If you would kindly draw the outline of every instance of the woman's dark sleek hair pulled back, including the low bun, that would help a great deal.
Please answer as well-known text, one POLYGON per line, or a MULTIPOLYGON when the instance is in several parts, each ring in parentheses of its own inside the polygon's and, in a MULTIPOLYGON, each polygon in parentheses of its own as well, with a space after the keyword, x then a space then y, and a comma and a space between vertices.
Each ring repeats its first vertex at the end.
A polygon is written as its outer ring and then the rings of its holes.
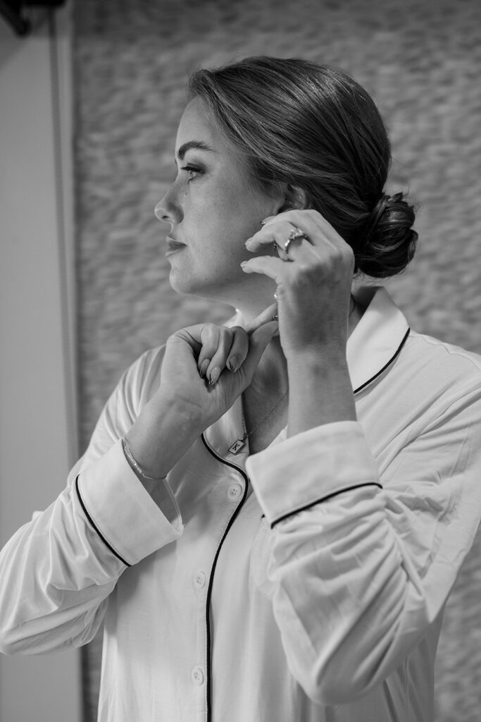
MULTIPOLYGON (((200 69, 189 80, 220 131, 265 191, 286 184, 305 194, 353 248, 356 271, 385 278, 415 252, 415 213, 403 193, 384 193, 391 163, 374 101, 332 66, 299 58, 244 58, 200 69)), ((287 210, 285 206, 284 210, 287 210)))

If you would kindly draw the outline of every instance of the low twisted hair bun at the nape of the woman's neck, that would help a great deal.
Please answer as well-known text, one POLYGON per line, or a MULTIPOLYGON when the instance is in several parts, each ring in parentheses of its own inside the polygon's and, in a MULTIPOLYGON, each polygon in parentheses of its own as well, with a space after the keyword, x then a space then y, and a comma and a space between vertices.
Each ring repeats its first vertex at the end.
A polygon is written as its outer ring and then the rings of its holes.
POLYGON ((418 233, 412 230, 415 212, 403 193, 383 193, 366 219, 356 270, 373 278, 404 271, 414 256, 418 233))

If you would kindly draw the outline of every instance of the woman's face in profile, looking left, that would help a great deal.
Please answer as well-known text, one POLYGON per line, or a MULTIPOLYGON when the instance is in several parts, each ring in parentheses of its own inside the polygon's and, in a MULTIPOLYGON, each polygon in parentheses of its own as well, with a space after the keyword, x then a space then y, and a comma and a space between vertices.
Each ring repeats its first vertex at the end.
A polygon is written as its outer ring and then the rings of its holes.
POLYGON ((180 120, 175 160, 177 177, 155 209, 156 217, 171 225, 167 257, 172 288, 241 307, 254 294, 259 302, 265 297, 268 305, 273 282, 247 276, 239 264, 252 258, 244 242, 260 229, 263 218, 280 211, 282 193, 268 196, 254 187, 242 157, 198 97, 180 120))

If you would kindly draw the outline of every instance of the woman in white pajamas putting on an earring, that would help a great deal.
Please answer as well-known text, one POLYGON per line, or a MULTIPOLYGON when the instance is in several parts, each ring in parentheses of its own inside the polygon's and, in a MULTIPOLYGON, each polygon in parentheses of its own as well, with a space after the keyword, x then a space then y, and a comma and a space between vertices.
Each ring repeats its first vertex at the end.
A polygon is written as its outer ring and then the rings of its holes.
POLYGON ((405 268, 389 142, 352 79, 198 71, 170 282, 230 303, 120 380, 58 499, 1 557, 2 649, 105 622, 102 722, 433 720, 441 617, 481 516, 480 359, 354 273, 405 268))

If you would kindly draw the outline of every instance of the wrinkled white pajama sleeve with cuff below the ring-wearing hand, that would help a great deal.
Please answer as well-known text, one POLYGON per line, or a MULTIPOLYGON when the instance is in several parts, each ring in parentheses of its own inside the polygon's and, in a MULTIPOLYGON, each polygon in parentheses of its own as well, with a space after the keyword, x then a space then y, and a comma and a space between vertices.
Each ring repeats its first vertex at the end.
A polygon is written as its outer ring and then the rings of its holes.
POLYGON ((480 523, 479 376, 422 432, 412 418, 379 460, 360 423, 338 422, 247 462, 272 528, 268 574, 287 663, 319 703, 356 700, 405 661, 442 612, 480 523))

